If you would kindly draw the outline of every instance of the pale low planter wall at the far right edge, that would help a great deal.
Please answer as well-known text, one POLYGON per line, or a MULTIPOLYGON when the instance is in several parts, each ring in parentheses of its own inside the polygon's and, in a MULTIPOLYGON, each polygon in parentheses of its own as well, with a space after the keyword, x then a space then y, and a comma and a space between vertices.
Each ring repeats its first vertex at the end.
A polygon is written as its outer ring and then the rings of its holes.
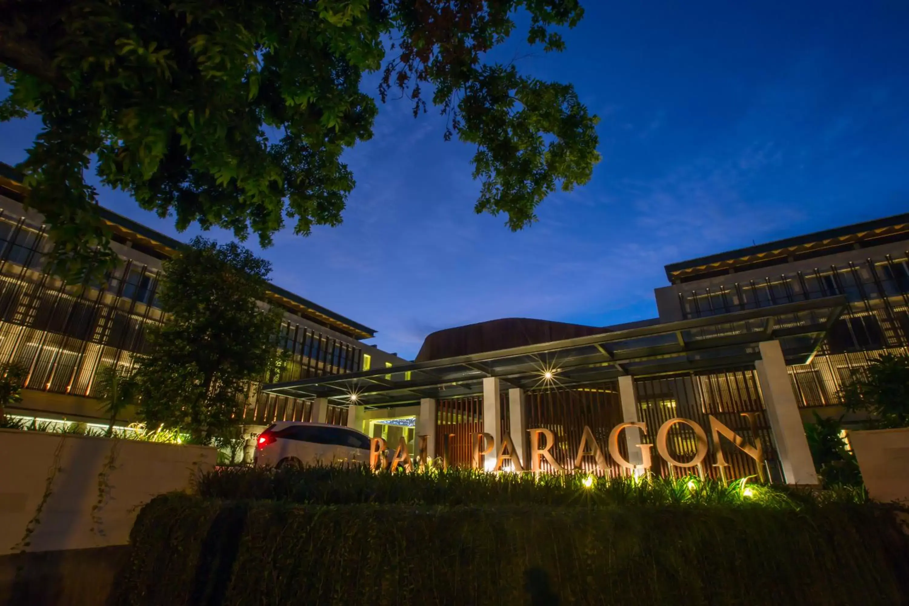
POLYGON ((909 427, 849 432, 849 443, 872 499, 909 502, 909 427))

